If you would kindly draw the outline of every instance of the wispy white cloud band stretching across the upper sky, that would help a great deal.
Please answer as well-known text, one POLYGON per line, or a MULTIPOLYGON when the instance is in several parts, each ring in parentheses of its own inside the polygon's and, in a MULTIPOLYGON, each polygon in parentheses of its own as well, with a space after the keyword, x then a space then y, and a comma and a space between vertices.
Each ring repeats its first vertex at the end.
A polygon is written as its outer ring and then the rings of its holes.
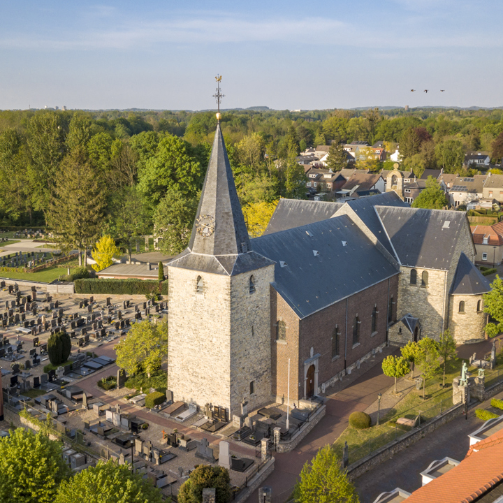
MULTIPOLYGON (((95 13, 108 17, 113 10, 95 7, 95 13)), ((359 48, 489 48, 502 47, 503 36, 490 38, 479 34, 442 34, 430 36, 425 30, 411 31, 407 23, 392 30, 349 24, 328 17, 302 19, 250 20, 235 15, 197 16, 170 20, 117 21, 99 29, 72 29, 59 26, 57 36, 17 34, 0 36, 0 46, 28 50, 130 50, 161 44, 198 45, 208 43, 302 43, 307 45, 338 45, 359 48)))

